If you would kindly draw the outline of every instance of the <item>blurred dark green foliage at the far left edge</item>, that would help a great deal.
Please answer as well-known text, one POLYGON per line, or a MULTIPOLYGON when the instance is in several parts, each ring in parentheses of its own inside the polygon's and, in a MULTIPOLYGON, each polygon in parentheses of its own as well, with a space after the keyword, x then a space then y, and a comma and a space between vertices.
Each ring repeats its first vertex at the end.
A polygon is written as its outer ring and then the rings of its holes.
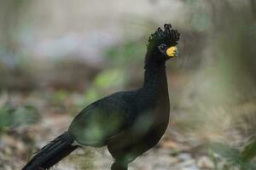
POLYGON ((0 131, 9 127, 19 127, 38 122, 38 110, 32 105, 17 108, 4 105, 0 108, 0 131))

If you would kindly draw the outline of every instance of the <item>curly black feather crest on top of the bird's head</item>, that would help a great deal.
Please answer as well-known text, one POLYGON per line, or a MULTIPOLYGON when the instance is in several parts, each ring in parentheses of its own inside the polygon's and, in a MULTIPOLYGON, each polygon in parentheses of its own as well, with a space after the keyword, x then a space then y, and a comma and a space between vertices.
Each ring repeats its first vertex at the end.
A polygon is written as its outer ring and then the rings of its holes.
POLYGON ((154 32, 154 34, 151 34, 148 39, 148 45, 151 42, 154 44, 165 43, 172 46, 177 45, 177 41, 179 40, 180 35, 177 30, 172 29, 171 24, 165 24, 164 28, 165 30, 163 31, 159 27, 157 31, 154 32))

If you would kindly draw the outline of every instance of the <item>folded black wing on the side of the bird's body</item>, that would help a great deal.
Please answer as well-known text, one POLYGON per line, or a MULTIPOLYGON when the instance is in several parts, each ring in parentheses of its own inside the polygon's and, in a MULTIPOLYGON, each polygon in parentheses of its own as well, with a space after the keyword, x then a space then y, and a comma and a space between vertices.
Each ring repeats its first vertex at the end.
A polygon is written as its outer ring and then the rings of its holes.
POLYGON ((104 145, 128 126, 126 106, 118 98, 98 100, 74 118, 69 132, 80 144, 104 145))

